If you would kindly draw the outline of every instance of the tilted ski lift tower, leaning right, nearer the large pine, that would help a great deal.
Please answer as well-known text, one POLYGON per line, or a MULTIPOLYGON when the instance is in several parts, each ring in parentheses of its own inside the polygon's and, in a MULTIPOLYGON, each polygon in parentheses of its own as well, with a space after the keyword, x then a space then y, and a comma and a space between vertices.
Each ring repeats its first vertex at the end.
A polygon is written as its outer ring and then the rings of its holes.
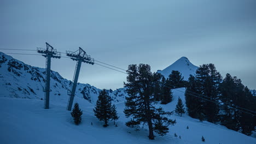
POLYGON ((68 57, 71 57, 71 59, 73 61, 77 61, 77 65, 75 66, 75 73, 74 73, 74 77, 73 77, 73 86, 72 86, 72 89, 71 89, 71 93, 68 94, 70 96, 69 96, 69 99, 68 99, 67 110, 71 111, 73 101, 74 101, 75 88, 77 88, 77 81, 78 81, 78 76, 79 76, 79 72, 80 72, 82 62, 93 65, 94 64, 94 59, 91 58, 89 55, 87 55, 86 52, 81 47, 79 47, 79 50, 77 50, 75 52, 66 51, 66 55, 68 57))

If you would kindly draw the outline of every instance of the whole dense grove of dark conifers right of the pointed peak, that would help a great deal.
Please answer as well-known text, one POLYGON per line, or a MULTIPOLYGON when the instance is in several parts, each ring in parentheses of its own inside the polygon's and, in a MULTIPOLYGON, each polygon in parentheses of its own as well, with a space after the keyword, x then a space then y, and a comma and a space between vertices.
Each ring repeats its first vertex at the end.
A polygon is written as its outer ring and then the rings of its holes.
POLYGON ((214 64, 203 64, 195 76, 190 75, 186 87, 185 103, 190 117, 252 134, 256 118, 240 107, 256 111, 256 99, 236 76, 226 74, 222 79, 214 64))

